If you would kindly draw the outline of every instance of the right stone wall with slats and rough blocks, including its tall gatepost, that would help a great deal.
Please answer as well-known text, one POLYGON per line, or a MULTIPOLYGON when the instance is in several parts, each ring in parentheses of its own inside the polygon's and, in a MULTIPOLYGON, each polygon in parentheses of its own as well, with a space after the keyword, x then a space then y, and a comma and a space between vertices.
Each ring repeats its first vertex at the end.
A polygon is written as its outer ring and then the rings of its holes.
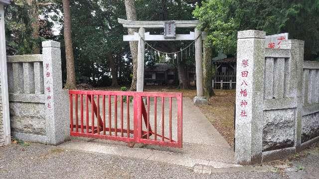
POLYGON ((319 141, 319 62, 304 41, 265 48, 265 32, 238 32, 235 158, 261 163, 319 141))

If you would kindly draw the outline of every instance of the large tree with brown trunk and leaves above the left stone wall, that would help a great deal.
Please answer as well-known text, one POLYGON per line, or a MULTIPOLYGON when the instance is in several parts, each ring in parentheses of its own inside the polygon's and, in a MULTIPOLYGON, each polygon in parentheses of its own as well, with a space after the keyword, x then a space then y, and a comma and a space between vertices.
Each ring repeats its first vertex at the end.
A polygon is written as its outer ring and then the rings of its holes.
POLYGON ((39 54, 41 41, 53 39, 50 12, 53 0, 14 0, 5 7, 7 45, 16 51, 10 55, 39 54))

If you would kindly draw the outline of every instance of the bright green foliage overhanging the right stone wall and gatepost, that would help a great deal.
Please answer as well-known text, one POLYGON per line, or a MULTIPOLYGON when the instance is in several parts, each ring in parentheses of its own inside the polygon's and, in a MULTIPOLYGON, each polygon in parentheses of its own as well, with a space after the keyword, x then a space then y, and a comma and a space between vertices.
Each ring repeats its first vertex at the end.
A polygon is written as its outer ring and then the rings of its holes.
POLYGON ((305 40, 305 60, 319 56, 318 13, 319 0, 205 0, 193 11, 217 51, 234 55, 240 30, 289 32, 290 39, 305 40))

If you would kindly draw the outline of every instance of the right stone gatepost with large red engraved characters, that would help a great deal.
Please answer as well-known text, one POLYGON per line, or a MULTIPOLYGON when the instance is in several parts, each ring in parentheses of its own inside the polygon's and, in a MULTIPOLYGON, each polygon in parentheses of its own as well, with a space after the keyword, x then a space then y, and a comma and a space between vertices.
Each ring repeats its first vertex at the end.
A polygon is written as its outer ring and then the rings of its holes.
POLYGON ((235 160, 238 164, 262 161, 265 32, 238 32, 235 160))

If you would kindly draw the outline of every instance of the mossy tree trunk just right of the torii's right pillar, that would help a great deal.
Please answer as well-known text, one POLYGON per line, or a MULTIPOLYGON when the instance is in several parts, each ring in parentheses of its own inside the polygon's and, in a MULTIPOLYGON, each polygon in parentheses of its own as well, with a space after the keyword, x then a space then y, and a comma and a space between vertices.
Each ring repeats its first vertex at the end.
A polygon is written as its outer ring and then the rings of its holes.
POLYGON ((214 95, 214 91, 212 89, 212 49, 210 47, 206 47, 204 44, 204 55, 203 55, 203 80, 204 80, 204 96, 210 97, 214 95))

